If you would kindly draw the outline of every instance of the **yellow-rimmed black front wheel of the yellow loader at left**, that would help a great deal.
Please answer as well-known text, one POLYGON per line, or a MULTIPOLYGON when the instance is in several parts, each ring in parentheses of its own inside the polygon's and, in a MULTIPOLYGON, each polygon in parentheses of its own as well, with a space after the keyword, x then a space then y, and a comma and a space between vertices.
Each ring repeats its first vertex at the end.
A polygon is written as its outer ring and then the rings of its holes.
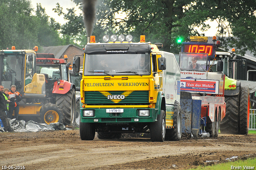
POLYGON ((64 114, 63 110, 56 104, 47 103, 44 104, 40 109, 40 122, 50 123, 63 123, 64 114))

